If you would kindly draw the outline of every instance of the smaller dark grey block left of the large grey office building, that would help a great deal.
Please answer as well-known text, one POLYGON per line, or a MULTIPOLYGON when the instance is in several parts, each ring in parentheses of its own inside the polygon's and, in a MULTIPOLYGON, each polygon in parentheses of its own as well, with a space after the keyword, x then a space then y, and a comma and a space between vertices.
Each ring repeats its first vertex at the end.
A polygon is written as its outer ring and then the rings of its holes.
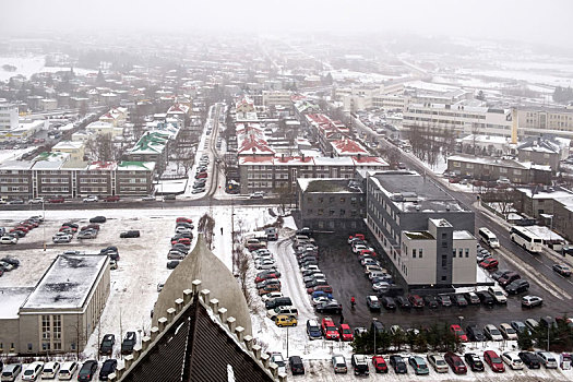
POLYGON ((366 194, 348 179, 299 178, 298 207, 301 225, 319 230, 363 230, 366 194))

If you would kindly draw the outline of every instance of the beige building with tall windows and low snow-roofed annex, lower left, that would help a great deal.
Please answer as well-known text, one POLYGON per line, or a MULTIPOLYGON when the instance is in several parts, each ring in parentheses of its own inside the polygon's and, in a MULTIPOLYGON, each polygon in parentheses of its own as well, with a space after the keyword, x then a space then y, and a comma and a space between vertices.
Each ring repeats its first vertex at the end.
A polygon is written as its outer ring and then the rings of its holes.
POLYGON ((58 255, 33 290, 1 289, 11 303, 2 303, 0 310, 0 351, 47 355, 83 349, 109 289, 108 256, 58 255))

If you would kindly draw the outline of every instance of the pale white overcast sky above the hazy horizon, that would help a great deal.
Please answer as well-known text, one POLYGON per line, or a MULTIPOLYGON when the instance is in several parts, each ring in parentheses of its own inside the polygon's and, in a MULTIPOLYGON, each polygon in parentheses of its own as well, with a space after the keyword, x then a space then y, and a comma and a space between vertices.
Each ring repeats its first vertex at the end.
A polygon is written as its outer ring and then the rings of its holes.
POLYGON ((571 0, 1 0, 0 33, 392 32, 571 44, 571 0))

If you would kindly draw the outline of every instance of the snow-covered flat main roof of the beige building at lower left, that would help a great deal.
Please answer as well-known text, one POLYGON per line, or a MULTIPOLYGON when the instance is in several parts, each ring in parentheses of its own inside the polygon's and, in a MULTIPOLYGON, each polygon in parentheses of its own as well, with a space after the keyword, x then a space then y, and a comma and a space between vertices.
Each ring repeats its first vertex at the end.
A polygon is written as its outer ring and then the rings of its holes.
POLYGON ((22 309, 82 308, 108 256, 60 254, 22 309))

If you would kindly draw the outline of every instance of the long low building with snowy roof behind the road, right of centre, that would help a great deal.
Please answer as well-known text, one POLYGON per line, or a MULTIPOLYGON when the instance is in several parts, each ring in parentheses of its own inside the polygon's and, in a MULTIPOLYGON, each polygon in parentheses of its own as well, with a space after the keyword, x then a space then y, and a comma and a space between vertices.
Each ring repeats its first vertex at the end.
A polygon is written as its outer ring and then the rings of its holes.
POLYGON ((515 184, 551 183, 551 168, 549 166, 467 154, 450 156, 447 158, 447 171, 482 181, 497 181, 505 178, 515 184))

